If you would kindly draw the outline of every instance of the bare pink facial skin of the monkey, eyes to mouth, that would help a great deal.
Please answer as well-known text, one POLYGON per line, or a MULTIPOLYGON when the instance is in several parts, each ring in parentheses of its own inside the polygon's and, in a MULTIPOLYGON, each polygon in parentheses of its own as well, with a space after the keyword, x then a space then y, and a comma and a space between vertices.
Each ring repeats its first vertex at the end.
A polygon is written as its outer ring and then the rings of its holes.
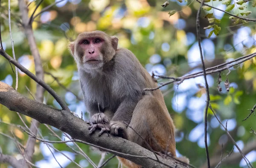
POLYGON ((83 50, 83 63, 85 64, 99 64, 103 61, 101 48, 104 40, 99 37, 90 37, 81 39, 79 42, 80 49, 83 50))

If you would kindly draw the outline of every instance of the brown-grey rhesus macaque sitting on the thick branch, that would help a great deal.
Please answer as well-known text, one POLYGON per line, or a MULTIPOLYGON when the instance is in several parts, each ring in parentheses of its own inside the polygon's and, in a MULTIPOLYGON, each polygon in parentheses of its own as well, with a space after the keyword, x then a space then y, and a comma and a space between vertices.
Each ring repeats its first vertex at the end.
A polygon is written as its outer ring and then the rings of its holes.
MULTIPOLYGON (((136 56, 128 49, 117 49, 117 43, 115 36, 102 31, 81 33, 70 43, 90 113, 90 134, 100 129, 99 135, 111 132, 151 150, 148 143, 158 152, 168 146, 170 154, 176 157, 175 126, 162 93, 143 91, 157 87, 157 83, 136 56)), ((129 168, 141 168, 129 160, 119 160, 129 168)), ((186 157, 178 160, 189 163, 186 157)))

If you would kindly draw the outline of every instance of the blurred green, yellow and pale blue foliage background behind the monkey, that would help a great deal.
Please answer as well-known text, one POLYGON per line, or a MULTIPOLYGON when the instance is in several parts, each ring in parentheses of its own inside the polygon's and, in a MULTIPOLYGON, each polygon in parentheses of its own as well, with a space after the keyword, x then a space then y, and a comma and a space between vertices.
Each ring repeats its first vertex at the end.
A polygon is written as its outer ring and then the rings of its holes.
MULTIPOLYGON (((39 0, 29 2, 32 2, 29 5, 29 14, 32 14, 39 0)), ((45 74, 45 82, 66 101, 71 111, 76 112, 80 117, 82 112, 84 120, 87 120, 88 115, 82 100, 77 67, 68 52, 67 45, 79 33, 94 30, 101 30, 110 35, 118 36, 119 47, 131 50, 149 73, 179 77, 202 70, 198 41, 195 35, 195 18, 200 4, 195 0, 183 1, 182 3, 177 0, 170 0, 169 6, 163 8, 161 5, 164 2, 165 0, 62 0, 49 10, 44 11, 35 19, 32 26, 44 70, 52 74, 52 76, 45 74), (169 16, 168 12, 171 10, 178 12, 169 16)), ((235 2, 237 0, 232 0, 232 3, 235 2)), ((44 0, 35 14, 52 3, 55 1, 44 0)), ((249 1, 242 5, 247 7, 247 11, 252 11, 248 16, 250 18, 256 18, 256 8, 253 8, 253 3, 253 1, 249 1)), ((222 10, 226 9, 226 5, 218 0, 210 1, 209 4, 222 10)), ((35 73, 35 65, 28 42, 23 34, 23 29, 17 22, 20 20, 17 0, 11 0, 11 9, 12 36, 16 58, 20 64, 35 73)), ((238 12, 241 12, 238 6, 230 11, 232 14, 238 12)), ((200 34, 207 67, 256 52, 255 22, 248 22, 247 24, 239 22, 234 25, 229 17, 224 12, 215 9, 202 11, 200 34), (210 38, 207 38, 209 32, 212 31, 212 28, 204 29, 209 25, 207 18, 204 17, 207 13, 213 13, 215 18, 221 20, 218 24, 221 27, 218 36, 212 34, 210 38)), ((0 21, 2 23, 1 33, 4 49, 12 56, 7 0, 1 0, 0 21)), ((250 133, 250 127, 256 130, 256 117, 251 115, 249 119, 242 121, 250 113, 247 109, 251 109, 256 104, 256 59, 239 64, 230 70, 231 73, 228 75, 230 92, 227 92, 224 87, 228 71, 221 73, 222 92, 218 92, 217 89, 217 74, 208 75, 207 80, 212 107, 224 125, 227 121, 227 129, 238 146, 243 149, 248 143, 256 140, 255 135, 250 133)), ((21 71, 18 73, 18 92, 32 98, 26 87, 35 94, 35 81, 21 71)), ((2 56, 0 56, 0 81, 15 86, 15 74, 12 72, 9 62, 2 56)), ((159 83, 165 81, 160 79, 159 83)), ((206 163, 204 146, 206 94, 204 85, 204 78, 201 76, 185 80, 179 85, 170 84, 161 88, 166 106, 177 129, 175 138, 177 154, 188 157, 196 167, 201 167, 206 163)), ((44 96, 46 104, 60 108, 49 93, 45 92, 44 96)), ((22 117, 29 125, 31 118, 22 117)), ((231 151, 232 148, 234 148, 233 153, 239 152, 211 111, 209 111, 207 120, 210 157, 217 155, 220 158, 221 151, 226 156, 227 151, 231 151), (223 150, 221 144, 223 144, 223 150)), ((13 132, 18 141, 26 144, 28 135, 19 128, 6 124, 15 123, 24 126, 16 112, 11 112, 5 106, 0 105, 0 121, 1 133, 12 136, 11 132, 13 132)), ((60 130, 53 127, 52 129, 63 140, 65 139, 60 130)), ((39 130, 45 139, 58 140, 46 126, 41 125, 39 130)), ((76 148, 73 143, 68 144, 76 148)), ((84 157, 75 154, 66 144, 52 145, 79 163, 81 167, 92 168, 84 157)), ((94 162, 99 162, 101 156, 98 153, 91 150, 87 145, 79 144, 79 146, 94 162)), ((0 149, 4 154, 22 158, 15 142, 3 134, 0 134, 0 149)), ((58 151, 52 149, 52 153, 63 167, 77 167, 58 151)), ((59 167, 52 153, 44 143, 38 142, 35 146, 33 163, 41 168, 59 167)), ((108 154, 106 158, 110 156, 111 154, 108 154)), ((246 157, 256 166, 255 147, 246 153, 246 157)), ((1 168, 10 168, 6 164, 0 165, 1 168)), ((114 168, 117 165, 118 161, 114 158, 105 167, 114 168)), ((244 160, 238 159, 222 167, 239 168, 244 166, 246 166, 244 160)))

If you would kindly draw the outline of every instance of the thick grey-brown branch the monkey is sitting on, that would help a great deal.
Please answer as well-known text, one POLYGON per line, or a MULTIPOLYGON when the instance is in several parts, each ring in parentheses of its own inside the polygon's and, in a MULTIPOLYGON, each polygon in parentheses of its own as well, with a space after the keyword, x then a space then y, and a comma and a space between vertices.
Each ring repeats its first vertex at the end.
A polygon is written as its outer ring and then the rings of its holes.
MULTIPOLYGON (((162 163, 157 162, 151 151, 120 137, 108 137, 107 134, 103 134, 99 137, 97 133, 90 135, 88 131, 89 125, 81 118, 77 118, 68 111, 54 109, 38 101, 32 101, 3 82, 0 82, 0 104, 3 104, 12 111, 20 112, 23 115, 34 118, 40 123, 46 123, 54 126, 55 128, 70 134, 71 137, 77 140, 83 140, 87 143, 92 143, 94 145, 116 151, 116 153, 113 151, 111 151, 111 153, 131 160, 139 165, 143 165, 144 167, 185 168, 185 166, 180 165, 176 161, 171 159, 166 160, 159 157, 160 162, 169 165, 165 166, 162 163), (143 157, 135 157, 134 155, 143 157)), ((108 150, 105 149, 105 151, 108 150)))

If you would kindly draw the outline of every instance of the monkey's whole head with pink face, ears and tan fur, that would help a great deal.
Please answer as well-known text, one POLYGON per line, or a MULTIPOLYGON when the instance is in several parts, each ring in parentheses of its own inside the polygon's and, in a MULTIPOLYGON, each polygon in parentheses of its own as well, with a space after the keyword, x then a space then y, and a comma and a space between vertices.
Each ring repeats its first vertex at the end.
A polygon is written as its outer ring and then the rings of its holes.
POLYGON ((84 32, 70 42, 70 53, 78 67, 87 72, 100 70, 115 55, 118 39, 102 31, 84 32))

